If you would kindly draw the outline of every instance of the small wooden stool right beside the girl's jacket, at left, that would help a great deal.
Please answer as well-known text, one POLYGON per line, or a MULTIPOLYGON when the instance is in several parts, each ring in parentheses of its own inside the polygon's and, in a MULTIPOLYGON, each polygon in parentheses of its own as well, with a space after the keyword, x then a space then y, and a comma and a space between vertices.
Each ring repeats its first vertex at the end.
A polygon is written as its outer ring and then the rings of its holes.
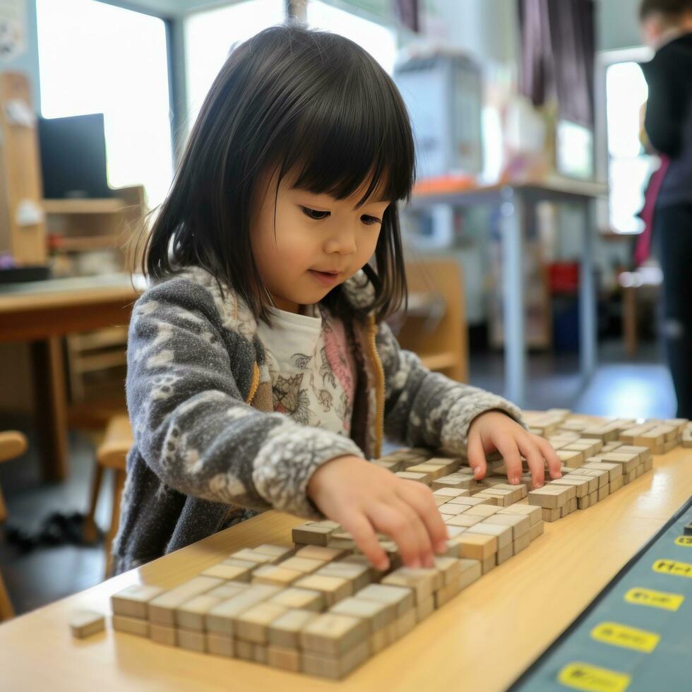
POLYGON ((103 470, 113 469, 114 479, 111 522, 106 532, 104 541, 106 559, 105 578, 108 578, 111 574, 111 546, 118 531, 118 524, 120 522, 120 499, 125 486, 126 458, 132 443, 133 437, 129 418, 124 415, 114 416, 107 426, 103 442, 96 451, 96 465, 94 468, 94 477, 91 485, 89 511, 84 524, 84 538, 87 541, 93 541, 95 539, 96 525, 94 515, 96 512, 96 503, 98 501, 98 496, 101 489, 103 470))

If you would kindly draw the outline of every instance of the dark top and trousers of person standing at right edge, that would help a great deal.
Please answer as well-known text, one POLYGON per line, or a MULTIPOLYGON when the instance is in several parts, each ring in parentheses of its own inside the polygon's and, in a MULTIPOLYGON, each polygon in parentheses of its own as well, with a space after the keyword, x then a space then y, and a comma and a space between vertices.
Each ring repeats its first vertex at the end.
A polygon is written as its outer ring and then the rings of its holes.
POLYGON ((664 338, 678 400, 692 419, 692 33, 664 44, 642 70, 649 87, 644 128, 670 157, 654 215, 663 271, 664 338))

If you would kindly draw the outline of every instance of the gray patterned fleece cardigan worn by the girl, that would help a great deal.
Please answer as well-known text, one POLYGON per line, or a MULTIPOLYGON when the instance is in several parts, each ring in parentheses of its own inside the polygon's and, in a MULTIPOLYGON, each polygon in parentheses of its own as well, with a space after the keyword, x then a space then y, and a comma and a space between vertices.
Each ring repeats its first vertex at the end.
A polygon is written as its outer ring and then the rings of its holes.
MULTIPOLYGON (((373 287, 345 282, 353 306, 373 287)), ((459 453, 470 423, 517 407, 430 372, 401 350, 386 323, 354 319, 357 390, 351 439, 273 412, 257 324, 232 290, 191 268, 150 287, 134 306, 127 405, 134 444, 114 541, 119 573, 269 508, 323 518, 306 496, 312 473, 340 455, 366 459, 391 441, 459 453)))

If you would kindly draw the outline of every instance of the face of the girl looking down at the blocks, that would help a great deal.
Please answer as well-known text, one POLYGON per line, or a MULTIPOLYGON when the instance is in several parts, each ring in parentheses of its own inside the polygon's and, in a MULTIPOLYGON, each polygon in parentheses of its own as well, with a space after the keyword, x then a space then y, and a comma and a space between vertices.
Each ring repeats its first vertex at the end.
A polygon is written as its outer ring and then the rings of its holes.
POLYGON ((258 185, 250 229, 252 253, 278 309, 299 312, 369 261, 390 202, 376 191, 356 209, 366 184, 349 198, 336 200, 295 189, 289 176, 282 179, 275 197, 277 179, 275 172, 258 185))

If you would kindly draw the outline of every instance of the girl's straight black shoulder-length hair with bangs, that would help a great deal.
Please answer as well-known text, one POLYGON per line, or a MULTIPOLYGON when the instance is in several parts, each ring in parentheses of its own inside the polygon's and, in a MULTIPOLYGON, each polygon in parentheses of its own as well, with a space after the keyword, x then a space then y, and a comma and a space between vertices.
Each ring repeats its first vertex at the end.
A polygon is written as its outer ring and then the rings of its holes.
POLYGON ((391 201, 364 272, 375 299, 347 308, 342 287, 323 303, 335 314, 381 320, 406 303, 396 201, 415 177, 406 107, 377 62, 354 42, 289 24, 268 28, 229 55, 205 98, 169 194, 146 241, 142 270, 166 278, 201 266, 269 321, 268 293, 253 261, 251 201, 263 173, 337 199, 367 184, 391 201))

